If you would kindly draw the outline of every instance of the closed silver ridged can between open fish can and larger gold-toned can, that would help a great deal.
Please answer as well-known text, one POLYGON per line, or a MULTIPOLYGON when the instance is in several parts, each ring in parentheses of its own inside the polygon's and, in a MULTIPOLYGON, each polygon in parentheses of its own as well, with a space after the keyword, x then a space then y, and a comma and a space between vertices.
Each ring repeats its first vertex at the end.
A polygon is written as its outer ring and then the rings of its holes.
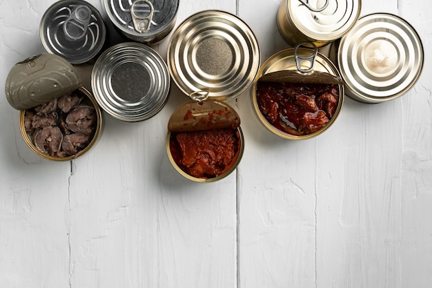
POLYGON ((141 121, 163 108, 170 90, 164 59, 135 42, 106 50, 92 70, 95 99, 108 114, 127 122, 141 121))

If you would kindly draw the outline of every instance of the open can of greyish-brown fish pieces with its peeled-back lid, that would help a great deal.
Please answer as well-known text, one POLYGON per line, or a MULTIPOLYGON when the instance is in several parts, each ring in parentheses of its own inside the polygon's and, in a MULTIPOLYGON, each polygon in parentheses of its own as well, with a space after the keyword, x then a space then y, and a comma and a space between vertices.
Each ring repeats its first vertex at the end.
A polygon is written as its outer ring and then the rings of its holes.
POLYGON ((19 62, 6 79, 6 98, 21 111, 23 140, 37 155, 75 159, 99 138, 102 115, 66 59, 42 54, 19 62))

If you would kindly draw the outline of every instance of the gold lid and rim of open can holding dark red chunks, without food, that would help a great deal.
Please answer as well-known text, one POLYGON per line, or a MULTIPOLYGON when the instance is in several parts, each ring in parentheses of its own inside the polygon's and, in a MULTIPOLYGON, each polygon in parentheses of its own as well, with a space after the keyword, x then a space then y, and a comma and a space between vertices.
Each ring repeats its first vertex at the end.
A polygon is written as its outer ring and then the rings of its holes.
MULTIPOLYGON (((259 121, 275 135, 289 140, 306 140, 324 133, 324 131, 328 130, 335 122, 344 102, 344 84, 335 64, 318 52, 316 47, 315 50, 313 50, 311 48, 301 47, 302 45, 303 44, 299 44, 295 48, 282 50, 268 58, 258 71, 251 93, 253 108, 259 121), (283 76, 279 76, 281 74, 283 76), (328 119, 328 122, 319 130, 305 135, 287 133, 269 122, 259 108, 257 88, 259 81, 268 78, 268 76, 272 77, 273 75, 275 75, 277 80, 269 80, 271 82, 292 82, 300 83, 305 86, 309 84, 332 84, 336 86, 338 89, 337 104, 335 104, 335 109, 332 112, 333 115, 328 119), (288 77, 286 77, 286 75, 288 75, 288 77)), ((311 45, 313 46, 313 44, 311 45)), ((317 112, 320 113, 319 110, 317 112)), ((292 123, 289 124, 291 125, 292 123)))

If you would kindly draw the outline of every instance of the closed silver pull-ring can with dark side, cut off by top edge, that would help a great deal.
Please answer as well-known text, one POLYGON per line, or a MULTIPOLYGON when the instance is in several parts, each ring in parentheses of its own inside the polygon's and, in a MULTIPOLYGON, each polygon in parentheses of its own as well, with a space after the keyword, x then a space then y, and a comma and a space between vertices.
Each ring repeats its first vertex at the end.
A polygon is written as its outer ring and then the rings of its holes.
POLYGON ((129 39, 154 44, 175 26, 179 0, 105 0, 112 23, 129 39))

